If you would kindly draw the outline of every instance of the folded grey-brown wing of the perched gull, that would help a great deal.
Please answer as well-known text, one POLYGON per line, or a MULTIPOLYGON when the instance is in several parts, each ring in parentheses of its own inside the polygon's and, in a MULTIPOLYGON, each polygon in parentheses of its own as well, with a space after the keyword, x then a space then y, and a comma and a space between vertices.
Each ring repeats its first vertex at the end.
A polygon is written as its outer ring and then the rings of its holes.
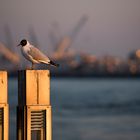
POLYGON ((49 62, 50 59, 43 54, 39 49, 35 48, 35 47, 30 47, 30 51, 28 51, 28 54, 35 60, 42 62, 42 63, 46 63, 49 62))

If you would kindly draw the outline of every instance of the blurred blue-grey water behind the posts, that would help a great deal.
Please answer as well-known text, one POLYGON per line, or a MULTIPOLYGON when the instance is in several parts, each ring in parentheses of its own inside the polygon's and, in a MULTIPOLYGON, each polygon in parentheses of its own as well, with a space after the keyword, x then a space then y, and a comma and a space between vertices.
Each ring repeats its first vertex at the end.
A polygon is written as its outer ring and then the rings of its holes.
MULTIPOLYGON (((139 140, 140 80, 52 79, 54 140, 139 140)), ((17 81, 9 81, 10 138, 16 136, 17 81)))

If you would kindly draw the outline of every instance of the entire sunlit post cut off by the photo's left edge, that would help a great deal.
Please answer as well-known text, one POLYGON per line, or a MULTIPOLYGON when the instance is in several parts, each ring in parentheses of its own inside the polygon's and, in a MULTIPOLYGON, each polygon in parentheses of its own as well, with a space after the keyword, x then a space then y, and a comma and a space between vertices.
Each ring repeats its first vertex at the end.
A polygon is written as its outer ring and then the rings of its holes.
POLYGON ((7 72, 0 71, 0 140, 9 139, 9 105, 7 87, 7 72))

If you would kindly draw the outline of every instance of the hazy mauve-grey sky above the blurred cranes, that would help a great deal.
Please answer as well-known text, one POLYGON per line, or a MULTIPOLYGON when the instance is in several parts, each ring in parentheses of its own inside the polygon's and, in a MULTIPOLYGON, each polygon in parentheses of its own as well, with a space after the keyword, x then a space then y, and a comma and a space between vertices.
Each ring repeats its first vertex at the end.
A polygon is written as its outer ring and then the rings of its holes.
POLYGON ((50 30, 61 38, 83 15, 88 21, 72 48, 116 56, 140 48, 140 0, 0 0, 0 41, 7 44, 9 26, 16 45, 29 38, 33 25, 41 47, 49 50, 50 30))

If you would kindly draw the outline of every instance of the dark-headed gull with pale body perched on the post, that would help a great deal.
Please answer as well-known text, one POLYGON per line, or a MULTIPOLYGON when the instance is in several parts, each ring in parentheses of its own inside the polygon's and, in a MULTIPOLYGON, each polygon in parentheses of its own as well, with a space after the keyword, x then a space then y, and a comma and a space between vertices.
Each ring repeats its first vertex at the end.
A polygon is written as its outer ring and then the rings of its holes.
POLYGON ((23 39, 18 46, 21 46, 21 52, 23 56, 32 63, 31 69, 34 69, 34 64, 48 64, 58 67, 59 64, 54 63, 49 59, 44 53, 42 53, 38 48, 34 47, 29 43, 28 40, 23 39))

